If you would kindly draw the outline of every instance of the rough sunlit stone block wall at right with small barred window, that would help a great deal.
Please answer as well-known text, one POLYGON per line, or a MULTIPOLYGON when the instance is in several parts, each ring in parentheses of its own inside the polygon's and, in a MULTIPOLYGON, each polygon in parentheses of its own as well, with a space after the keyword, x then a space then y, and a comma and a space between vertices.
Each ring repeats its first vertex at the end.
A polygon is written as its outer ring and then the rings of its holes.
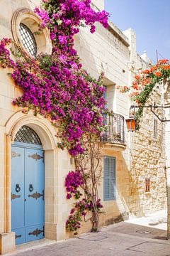
MULTIPOLYGON (((160 92, 154 92, 147 105, 160 105, 160 92)), ((161 117, 162 110, 157 110, 161 117)), ((132 134, 130 149, 130 213, 140 217, 166 207, 165 124, 144 109, 140 129, 132 134), (154 134, 154 120, 157 132, 154 134), (150 179, 150 189, 145 190, 150 179)))

